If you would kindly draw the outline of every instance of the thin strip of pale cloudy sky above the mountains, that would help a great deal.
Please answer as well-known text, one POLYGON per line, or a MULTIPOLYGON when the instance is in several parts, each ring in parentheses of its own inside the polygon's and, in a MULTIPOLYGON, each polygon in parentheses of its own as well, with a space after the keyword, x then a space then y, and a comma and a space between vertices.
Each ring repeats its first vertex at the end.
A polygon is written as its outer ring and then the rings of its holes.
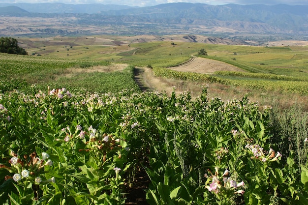
POLYGON ((227 3, 236 4, 266 4, 276 5, 280 3, 289 5, 308 5, 308 0, 0 0, 0 3, 102 3, 102 4, 118 4, 128 6, 153 6, 162 3, 173 2, 190 2, 190 3, 206 3, 211 5, 222 5, 227 3))

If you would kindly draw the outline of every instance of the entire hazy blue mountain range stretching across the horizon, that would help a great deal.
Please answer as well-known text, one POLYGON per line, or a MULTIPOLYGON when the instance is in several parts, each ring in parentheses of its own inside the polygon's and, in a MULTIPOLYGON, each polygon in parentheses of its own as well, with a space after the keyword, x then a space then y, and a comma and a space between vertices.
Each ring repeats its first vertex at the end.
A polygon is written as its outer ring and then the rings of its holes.
MULTIPOLYGON (((113 4, 0 3, 0 16, 73 18, 79 25, 117 25, 127 33, 241 33, 308 36, 307 5, 209 5, 166 3, 149 7, 113 4)), ((120 32, 118 30, 118 32, 120 32)), ((121 33, 117 33, 121 34, 121 33)))

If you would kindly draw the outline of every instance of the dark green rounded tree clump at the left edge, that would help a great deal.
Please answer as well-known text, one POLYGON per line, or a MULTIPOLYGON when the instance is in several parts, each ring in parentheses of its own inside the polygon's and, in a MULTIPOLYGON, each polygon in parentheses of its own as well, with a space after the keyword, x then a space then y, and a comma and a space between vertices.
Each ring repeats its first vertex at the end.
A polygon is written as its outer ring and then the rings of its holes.
POLYGON ((25 49, 18 46, 17 40, 11 37, 0 38, 0 53, 28 55, 25 49))

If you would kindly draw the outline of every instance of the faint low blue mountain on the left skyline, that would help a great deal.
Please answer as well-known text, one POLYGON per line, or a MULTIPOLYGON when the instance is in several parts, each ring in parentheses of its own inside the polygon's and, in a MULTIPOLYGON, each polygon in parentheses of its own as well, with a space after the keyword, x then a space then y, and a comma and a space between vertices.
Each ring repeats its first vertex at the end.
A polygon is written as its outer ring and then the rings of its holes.
POLYGON ((115 5, 115 4, 101 4, 101 3, 90 3, 90 4, 65 4, 65 3, 0 3, 0 7, 6 6, 18 6, 29 12, 35 13, 98 13, 101 11, 108 10, 122 10, 127 8, 133 8, 126 5, 115 5))

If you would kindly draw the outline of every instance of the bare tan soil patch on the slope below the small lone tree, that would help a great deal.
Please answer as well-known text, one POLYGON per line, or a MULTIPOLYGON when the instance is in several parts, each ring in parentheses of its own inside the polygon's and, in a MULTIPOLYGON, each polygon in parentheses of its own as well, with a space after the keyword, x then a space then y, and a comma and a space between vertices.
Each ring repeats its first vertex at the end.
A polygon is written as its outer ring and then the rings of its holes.
POLYGON ((170 69, 183 72, 194 72, 203 74, 213 74, 215 71, 242 71, 244 70, 230 65, 225 62, 221 62, 213 59, 205 59, 193 57, 187 63, 182 65, 171 67, 170 69))

